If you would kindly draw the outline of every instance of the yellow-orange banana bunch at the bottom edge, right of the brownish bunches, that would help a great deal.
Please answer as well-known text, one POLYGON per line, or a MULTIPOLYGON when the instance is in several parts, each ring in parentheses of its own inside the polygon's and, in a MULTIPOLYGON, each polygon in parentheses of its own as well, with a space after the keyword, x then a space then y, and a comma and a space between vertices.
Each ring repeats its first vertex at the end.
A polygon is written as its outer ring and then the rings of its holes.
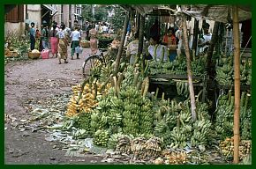
MULTIPOLYGON (((185 151, 163 151, 162 163, 166 165, 182 165, 188 162, 188 155, 185 151)), ((155 162, 154 162, 155 164, 155 162)))

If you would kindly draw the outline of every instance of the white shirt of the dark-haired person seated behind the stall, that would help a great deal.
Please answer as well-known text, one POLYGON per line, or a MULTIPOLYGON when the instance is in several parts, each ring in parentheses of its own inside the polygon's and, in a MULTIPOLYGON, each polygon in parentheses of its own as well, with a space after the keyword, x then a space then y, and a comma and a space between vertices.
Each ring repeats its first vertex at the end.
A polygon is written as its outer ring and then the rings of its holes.
POLYGON ((155 46, 150 45, 148 48, 148 53, 152 55, 153 59, 160 61, 163 54, 163 62, 168 61, 168 48, 164 45, 157 44, 155 46), (156 49, 156 50, 155 50, 156 49), (155 51, 155 54, 154 54, 155 51))

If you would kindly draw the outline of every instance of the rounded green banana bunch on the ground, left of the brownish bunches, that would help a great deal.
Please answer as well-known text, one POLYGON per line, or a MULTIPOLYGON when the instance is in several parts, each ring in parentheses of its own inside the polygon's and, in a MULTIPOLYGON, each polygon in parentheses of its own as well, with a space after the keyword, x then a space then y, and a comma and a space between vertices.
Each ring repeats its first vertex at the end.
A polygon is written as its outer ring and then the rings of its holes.
POLYGON ((101 145, 103 147, 107 147, 109 141, 109 133, 107 130, 104 129, 98 129, 94 133, 94 145, 101 145))

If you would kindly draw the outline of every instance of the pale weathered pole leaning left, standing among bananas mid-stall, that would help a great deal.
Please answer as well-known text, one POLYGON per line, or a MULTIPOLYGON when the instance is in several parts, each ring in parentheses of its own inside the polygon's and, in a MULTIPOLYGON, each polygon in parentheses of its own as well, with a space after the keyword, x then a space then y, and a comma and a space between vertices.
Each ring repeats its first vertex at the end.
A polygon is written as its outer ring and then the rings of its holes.
POLYGON ((192 72, 191 72, 191 55, 188 46, 188 37, 187 37, 187 27, 186 27, 186 18, 185 16, 182 18, 182 26, 183 26, 183 34, 184 34, 184 52, 186 55, 186 67, 187 67, 187 77, 188 77, 188 84, 189 84, 189 92, 190 92, 190 99, 191 99, 191 109, 192 109, 192 121, 196 121, 196 106, 195 106, 195 95, 194 89, 192 84, 192 72))

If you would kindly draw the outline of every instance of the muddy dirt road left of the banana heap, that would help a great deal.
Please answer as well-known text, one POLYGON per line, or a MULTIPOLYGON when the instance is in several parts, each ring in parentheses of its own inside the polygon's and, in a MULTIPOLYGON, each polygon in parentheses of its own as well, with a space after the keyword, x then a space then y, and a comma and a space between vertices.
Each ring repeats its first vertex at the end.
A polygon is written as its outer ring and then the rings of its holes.
POLYGON ((20 131, 15 128, 20 121, 31 117, 24 107, 28 100, 42 101, 53 94, 72 92, 72 84, 78 84, 83 79, 81 66, 89 52, 89 48, 84 48, 80 59, 71 60, 69 57, 67 64, 58 64, 56 58, 49 58, 12 62, 4 67, 5 164, 79 164, 100 161, 93 155, 86 158, 66 157, 64 151, 53 149, 57 143, 45 140, 45 132, 32 132, 29 129, 20 131), (49 82, 51 84, 47 85, 49 82))

